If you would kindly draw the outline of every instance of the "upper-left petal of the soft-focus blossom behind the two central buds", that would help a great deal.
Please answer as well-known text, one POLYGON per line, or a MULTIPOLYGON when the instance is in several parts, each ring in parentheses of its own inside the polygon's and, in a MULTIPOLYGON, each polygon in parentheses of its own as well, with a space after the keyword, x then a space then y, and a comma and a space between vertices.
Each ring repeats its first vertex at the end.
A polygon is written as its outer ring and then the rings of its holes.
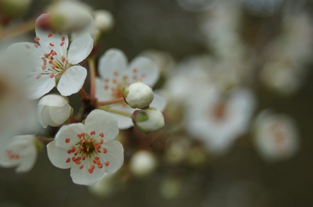
MULTIPOLYGON (((102 78, 122 77, 126 72, 127 57, 123 51, 110 49, 99 59, 98 72, 102 78)), ((111 81, 111 80, 110 80, 111 81)))

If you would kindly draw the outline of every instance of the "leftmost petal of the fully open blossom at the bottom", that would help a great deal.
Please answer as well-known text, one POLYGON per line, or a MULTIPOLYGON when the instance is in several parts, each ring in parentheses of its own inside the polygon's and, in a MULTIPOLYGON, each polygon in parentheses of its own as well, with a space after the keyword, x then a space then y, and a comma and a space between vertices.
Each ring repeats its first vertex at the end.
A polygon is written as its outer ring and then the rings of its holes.
POLYGON ((55 146, 55 140, 47 144, 47 153, 51 163, 61 169, 71 168, 73 163, 66 162, 70 154, 67 153, 67 150, 61 147, 55 146))

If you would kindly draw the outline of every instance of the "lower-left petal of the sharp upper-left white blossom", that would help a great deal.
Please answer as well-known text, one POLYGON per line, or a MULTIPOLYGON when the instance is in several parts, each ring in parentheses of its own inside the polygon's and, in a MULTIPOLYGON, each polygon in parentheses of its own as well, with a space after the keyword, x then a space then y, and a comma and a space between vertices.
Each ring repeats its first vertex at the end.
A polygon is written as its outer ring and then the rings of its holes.
POLYGON ((33 75, 26 79, 26 93, 29 99, 37 99, 45 95, 55 86, 55 77, 49 75, 41 75, 37 78, 33 75))

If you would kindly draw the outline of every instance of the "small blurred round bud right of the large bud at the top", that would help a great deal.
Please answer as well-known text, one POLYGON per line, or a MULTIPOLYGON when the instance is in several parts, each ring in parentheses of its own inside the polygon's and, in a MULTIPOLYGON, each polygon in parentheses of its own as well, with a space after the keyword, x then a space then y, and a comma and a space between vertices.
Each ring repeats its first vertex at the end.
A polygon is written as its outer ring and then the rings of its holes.
POLYGON ((114 18, 111 12, 103 9, 96 10, 93 12, 93 17, 94 22, 100 31, 106 32, 112 29, 114 25, 114 18))

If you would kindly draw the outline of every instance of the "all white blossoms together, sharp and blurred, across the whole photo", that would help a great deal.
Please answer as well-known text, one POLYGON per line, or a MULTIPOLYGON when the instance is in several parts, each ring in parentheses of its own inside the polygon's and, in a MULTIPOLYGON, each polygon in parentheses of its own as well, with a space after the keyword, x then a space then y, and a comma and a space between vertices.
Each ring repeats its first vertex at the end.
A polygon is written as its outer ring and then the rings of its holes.
MULTIPOLYGON (((16 15, 1 10, 7 2, 0 0, 0 23, 16 15)), ((111 13, 76 0, 49 5, 31 22, 34 41, 14 43, 0 58, 0 166, 27 172, 46 149, 54 166, 70 169, 75 184, 103 196, 117 180, 148 176, 164 163, 208 164, 236 144, 254 147, 266 162, 293 156, 299 148, 295 121, 258 110, 253 89, 264 84, 284 95, 299 90, 302 66, 313 53, 309 15, 283 16, 285 32, 258 48, 243 38, 238 2, 177 2, 201 11, 207 54, 179 62, 151 50, 130 62, 120 49, 98 54, 101 35, 114 23, 111 13)), ((252 2, 259 0, 241 5, 267 16, 283 1, 252 2)), ((181 186, 179 179, 165 178, 159 189, 175 197, 181 186)))

